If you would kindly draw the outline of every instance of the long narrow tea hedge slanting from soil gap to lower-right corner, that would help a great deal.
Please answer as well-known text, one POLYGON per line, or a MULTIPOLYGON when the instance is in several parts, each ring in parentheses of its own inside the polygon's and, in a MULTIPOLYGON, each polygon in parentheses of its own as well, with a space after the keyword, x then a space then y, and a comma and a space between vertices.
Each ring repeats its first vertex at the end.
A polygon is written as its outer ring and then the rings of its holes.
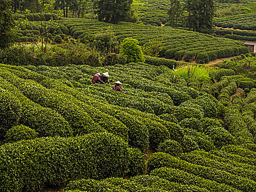
POLYGON ((256 190, 256 182, 251 179, 235 176, 234 174, 216 168, 189 163, 162 152, 151 155, 148 160, 149 171, 153 171, 155 168, 160 167, 176 168, 191 174, 196 174, 205 179, 215 180, 218 183, 230 185, 238 190, 256 190))

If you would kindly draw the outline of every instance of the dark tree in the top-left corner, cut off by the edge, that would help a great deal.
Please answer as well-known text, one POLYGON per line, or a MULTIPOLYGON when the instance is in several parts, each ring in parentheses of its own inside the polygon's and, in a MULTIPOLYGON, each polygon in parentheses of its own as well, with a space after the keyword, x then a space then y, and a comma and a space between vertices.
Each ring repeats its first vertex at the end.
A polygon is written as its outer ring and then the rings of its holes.
POLYGON ((10 1, 0 3, 0 48, 7 48, 13 43, 14 20, 10 10, 10 1))

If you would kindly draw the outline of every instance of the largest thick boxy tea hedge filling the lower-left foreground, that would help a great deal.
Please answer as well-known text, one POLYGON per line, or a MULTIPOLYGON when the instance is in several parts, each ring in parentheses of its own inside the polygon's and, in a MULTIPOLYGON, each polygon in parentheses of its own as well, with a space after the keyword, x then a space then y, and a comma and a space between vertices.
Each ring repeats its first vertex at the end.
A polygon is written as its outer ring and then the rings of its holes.
POLYGON ((23 140, 0 146, 0 154, 2 191, 38 191, 79 178, 123 177, 129 166, 127 144, 109 133, 23 140))

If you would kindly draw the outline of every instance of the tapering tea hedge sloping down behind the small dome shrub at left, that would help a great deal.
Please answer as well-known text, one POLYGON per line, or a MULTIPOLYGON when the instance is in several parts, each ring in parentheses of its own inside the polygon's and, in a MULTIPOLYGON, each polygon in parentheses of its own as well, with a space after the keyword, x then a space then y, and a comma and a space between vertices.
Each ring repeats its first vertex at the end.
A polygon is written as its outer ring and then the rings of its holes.
MULTIPOLYGON (((5 71, 6 72, 6 71, 5 71)), ((1 76, 3 76, 1 71, 1 76)), ((10 78, 12 75, 7 73, 5 77, 10 78)), ((58 112, 43 108, 41 105, 27 99, 19 89, 8 83, 3 78, 1 79, 0 87, 7 89, 9 92, 16 95, 21 104, 22 115, 20 123, 35 129, 38 137, 60 136, 67 137, 73 135, 73 131, 69 123, 58 112)))

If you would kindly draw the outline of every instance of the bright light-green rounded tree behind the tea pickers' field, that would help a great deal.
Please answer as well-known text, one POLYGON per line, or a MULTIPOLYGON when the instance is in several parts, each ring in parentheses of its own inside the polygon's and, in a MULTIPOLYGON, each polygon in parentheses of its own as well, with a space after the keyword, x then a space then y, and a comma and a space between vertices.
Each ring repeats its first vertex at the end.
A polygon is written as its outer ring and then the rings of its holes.
POLYGON ((125 55, 127 63, 138 63, 144 61, 141 46, 138 45, 137 39, 124 39, 121 43, 120 53, 125 55))

